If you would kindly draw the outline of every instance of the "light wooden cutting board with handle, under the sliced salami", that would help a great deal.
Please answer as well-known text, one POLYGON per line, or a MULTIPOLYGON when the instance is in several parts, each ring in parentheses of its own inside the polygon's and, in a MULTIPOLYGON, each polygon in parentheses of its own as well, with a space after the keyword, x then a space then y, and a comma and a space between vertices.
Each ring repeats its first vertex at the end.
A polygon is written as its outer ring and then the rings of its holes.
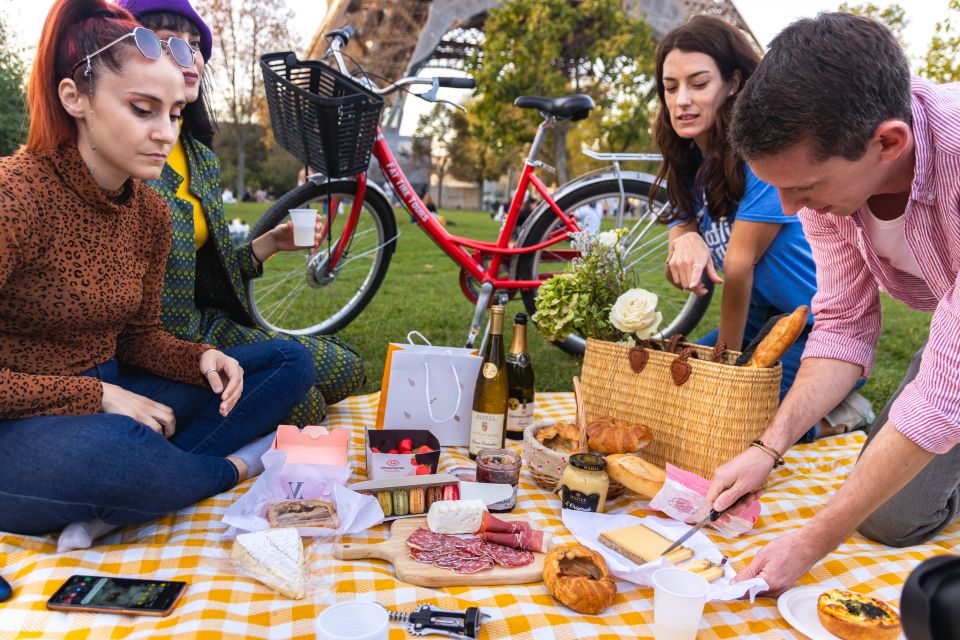
MULTIPOLYGON (((522 520, 518 516, 497 514, 501 520, 522 520)), ((407 538, 419 528, 427 528, 427 519, 401 518, 390 527, 390 539, 378 544, 340 544, 334 550, 341 560, 386 560, 397 573, 397 580, 421 587, 470 587, 479 585, 529 584, 543 579, 544 554, 534 553, 533 564, 526 567, 496 565, 477 573, 456 573, 429 564, 421 564, 407 551, 407 538)))

